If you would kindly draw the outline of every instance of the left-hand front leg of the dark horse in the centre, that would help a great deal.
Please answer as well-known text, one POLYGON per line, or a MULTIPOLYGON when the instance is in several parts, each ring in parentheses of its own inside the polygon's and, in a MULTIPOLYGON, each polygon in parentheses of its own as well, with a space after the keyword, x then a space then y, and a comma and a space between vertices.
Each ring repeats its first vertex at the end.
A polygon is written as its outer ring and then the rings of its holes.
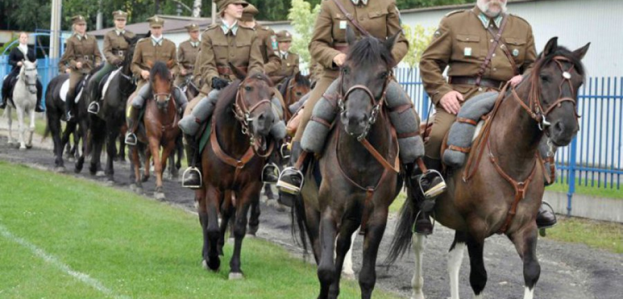
POLYGON ((335 270, 333 254, 337 223, 333 219, 333 210, 326 207, 320 219, 320 263, 318 264, 318 280, 320 280, 319 299, 330 298, 329 288, 338 275, 335 270))

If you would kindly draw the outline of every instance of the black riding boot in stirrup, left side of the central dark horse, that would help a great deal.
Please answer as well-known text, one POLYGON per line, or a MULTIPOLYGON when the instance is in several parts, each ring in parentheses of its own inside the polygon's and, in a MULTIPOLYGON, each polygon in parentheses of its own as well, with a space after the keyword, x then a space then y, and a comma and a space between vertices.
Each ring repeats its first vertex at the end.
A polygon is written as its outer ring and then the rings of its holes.
POLYGON ((292 142, 292 154, 290 156, 290 167, 283 169, 277 181, 279 191, 278 202, 284 206, 292 207, 298 194, 303 187, 303 166, 307 152, 303 151, 298 141, 292 142))

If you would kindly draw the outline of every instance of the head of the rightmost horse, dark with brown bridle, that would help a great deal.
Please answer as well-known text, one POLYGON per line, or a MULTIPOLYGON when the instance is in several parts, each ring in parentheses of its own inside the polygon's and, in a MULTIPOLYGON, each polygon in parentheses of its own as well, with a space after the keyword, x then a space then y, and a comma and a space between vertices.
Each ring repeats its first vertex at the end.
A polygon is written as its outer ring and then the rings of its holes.
POLYGON ((556 146, 568 145, 579 130, 576 105, 585 75, 581 60, 589 45, 572 52, 558 46, 558 37, 553 37, 532 70, 531 112, 556 146))

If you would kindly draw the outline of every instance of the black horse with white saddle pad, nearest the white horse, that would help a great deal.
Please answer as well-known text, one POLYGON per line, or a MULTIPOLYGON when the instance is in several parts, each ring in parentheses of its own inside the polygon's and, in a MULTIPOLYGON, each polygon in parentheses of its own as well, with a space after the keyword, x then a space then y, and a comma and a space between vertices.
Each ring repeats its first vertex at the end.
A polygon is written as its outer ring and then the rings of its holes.
POLYGON ((88 78, 102 68, 102 65, 94 68, 89 74, 84 74, 82 80, 76 84, 75 88, 75 108, 77 113, 73 120, 68 121, 65 130, 62 131, 60 121, 64 120, 65 115, 65 97, 67 97, 67 88, 69 88, 69 74, 60 74, 50 80, 45 91, 45 116, 47 123, 45 126, 44 138, 52 134, 54 141, 54 165, 55 171, 64 172, 65 164, 63 160, 63 149, 69 142, 69 135, 74 134, 75 148, 72 152, 75 156, 74 171, 79 173, 82 171, 85 156, 87 154, 87 133, 88 133, 88 112, 84 87, 87 85, 88 78), (61 136, 62 131, 62 136, 61 136), (82 147, 78 146, 82 141, 82 147))

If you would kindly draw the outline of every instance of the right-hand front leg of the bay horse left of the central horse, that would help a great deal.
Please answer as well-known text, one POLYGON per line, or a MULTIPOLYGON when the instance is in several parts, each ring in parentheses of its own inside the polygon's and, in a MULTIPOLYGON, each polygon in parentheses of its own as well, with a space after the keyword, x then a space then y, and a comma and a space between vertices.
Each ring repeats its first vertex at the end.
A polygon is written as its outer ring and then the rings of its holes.
POLYGON ((247 186, 242 191, 236 192, 236 206, 234 215, 234 253, 229 261, 229 279, 244 278, 240 269, 240 252, 242 251, 242 240, 247 232, 247 213, 251 202, 259 202, 261 183, 257 185, 247 186))

